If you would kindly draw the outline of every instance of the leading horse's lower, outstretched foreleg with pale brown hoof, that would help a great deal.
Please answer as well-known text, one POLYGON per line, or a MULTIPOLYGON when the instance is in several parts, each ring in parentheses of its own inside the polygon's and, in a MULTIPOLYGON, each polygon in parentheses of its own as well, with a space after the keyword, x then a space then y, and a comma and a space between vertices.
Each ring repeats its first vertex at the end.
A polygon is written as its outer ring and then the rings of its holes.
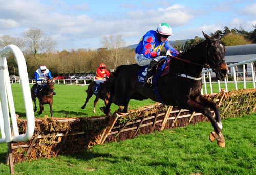
POLYGON ((210 120, 212 127, 214 127, 214 131, 215 131, 210 133, 210 136, 209 136, 210 141, 214 141, 215 139, 217 139, 218 145, 220 147, 225 147, 225 139, 221 133, 221 128, 218 126, 210 110, 200 105, 199 103, 193 101, 192 99, 188 99, 187 101, 180 103, 179 106, 181 108, 186 108, 191 111, 200 112, 203 115, 205 115, 210 120))

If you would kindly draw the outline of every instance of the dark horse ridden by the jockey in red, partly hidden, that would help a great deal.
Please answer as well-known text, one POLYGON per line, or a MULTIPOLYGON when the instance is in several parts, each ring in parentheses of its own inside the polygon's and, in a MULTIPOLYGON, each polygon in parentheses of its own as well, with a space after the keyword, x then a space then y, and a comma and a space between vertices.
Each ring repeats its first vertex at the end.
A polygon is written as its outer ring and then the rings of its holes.
MULTIPOLYGON (((91 82, 91 83, 89 84, 88 89, 86 90, 86 92, 87 92, 87 98, 86 98, 86 101, 84 102, 84 105, 81 107, 82 109, 84 109, 84 108, 86 107, 87 102, 88 102, 89 99, 93 96, 93 94, 94 94, 94 93, 93 93, 93 92, 94 92, 94 88, 95 88, 96 85, 97 85, 97 84, 96 84, 95 81, 93 81, 93 82, 91 82)), ((106 91, 106 89, 104 88, 104 83, 102 83, 100 86, 101 86, 101 87, 100 87, 101 90, 99 90, 98 94, 95 95, 96 98, 95 98, 94 104, 93 104, 93 113, 96 112, 96 111, 95 111, 95 106, 96 106, 96 104, 97 104, 99 98, 100 98, 100 99, 103 99, 103 101, 105 102, 105 105, 108 104, 108 102, 109 102, 109 97, 110 97, 110 95, 109 95, 108 91, 106 91)))

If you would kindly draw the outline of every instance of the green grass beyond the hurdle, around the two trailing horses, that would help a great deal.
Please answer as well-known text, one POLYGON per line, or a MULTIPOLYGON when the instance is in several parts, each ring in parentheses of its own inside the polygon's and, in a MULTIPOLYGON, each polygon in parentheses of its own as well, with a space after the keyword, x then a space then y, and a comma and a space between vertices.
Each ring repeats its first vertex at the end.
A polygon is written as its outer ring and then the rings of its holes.
MULTIPOLYGON (((32 86, 32 85, 31 85, 32 86)), ((53 97, 53 115, 54 117, 89 117, 89 116, 101 116, 104 115, 102 111, 100 111, 99 107, 105 106, 104 101, 99 99, 96 105, 96 113, 93 111, 93 103, 95 99, 95 95, 93 95, 89 102, 86 105, 86 109, 81 109, 84 101, 86 100, 87 93, 84 92, 88 88, 88 86, 79 86, 79 85, 55 85, 54 86, 57 95, 53 97)), ((26 116, 24 109, 24 102, 22 97, 22 89, 20 84, 12 84, 12 92, 14 98, 14 106, 16 110, 16 114, 20 116, 26 116)), ((135 101, 131 100, 129 103, 129 109, 136 109, 142 106, 151 105, 155 102, 152 100, 145 101, 135 101)), ((34 104, 34 103, 33 103, 34 104)), ((37 111, 39 111, 39 101, 36 99, 37 111)), ((113 104, 111 106, 111 111, 115 111, 118 109, 118 106, 113 104)), ((36 118, 42 118, 45 115, 50 115, 49 105, 44 105, 44 111, 41 115, 38 115, 35 112, 36 118)))

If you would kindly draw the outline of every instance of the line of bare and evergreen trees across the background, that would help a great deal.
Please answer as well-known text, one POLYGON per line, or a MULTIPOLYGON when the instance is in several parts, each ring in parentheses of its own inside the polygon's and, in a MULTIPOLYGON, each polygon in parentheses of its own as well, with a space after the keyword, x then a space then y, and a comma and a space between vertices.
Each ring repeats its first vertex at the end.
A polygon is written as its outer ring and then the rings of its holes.
MULTIPOLYGON (((254 30, 247 32, 242 27, 239 29, 217 30, 221 41, 225 46, 256 43, 256 26, 254 30)), ((72 49, 71 51, 55 51, 56 42, 51 36, 41 29, 30 28, 23 32, 23 37, 0 36, 0 48, 9 44, 17 45, 22 49, 28 68, 29 77, 34 77, 34 72, 40 65, 46 65, 54 76, 58 74, 84 74, 95 72, 100 63, 105 63, 108 69, 116 69, 122 64, 135 63, 134 49, 124 48, 125 42, 122 35, 109 35, 101 38, 102 47, 99 49, 72 49)), ((195 36, 185 44, 178 43, 174 47, 178 51, 184 51, 193 45, 203 41, 204 38, 195 36)), ((18 74, 16 60, 13 55, 8 56, 9 74, 18 74)))

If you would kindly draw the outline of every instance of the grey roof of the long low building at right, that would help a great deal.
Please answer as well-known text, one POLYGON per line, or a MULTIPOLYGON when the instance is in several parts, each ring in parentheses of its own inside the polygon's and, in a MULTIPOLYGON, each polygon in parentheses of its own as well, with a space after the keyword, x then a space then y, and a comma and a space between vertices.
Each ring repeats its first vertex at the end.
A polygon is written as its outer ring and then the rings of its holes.
POLYGON ((227 46, 226 56, 256 54, 256 44, 227 46))

